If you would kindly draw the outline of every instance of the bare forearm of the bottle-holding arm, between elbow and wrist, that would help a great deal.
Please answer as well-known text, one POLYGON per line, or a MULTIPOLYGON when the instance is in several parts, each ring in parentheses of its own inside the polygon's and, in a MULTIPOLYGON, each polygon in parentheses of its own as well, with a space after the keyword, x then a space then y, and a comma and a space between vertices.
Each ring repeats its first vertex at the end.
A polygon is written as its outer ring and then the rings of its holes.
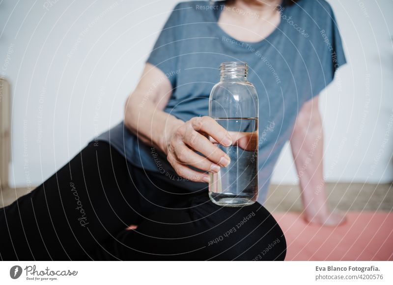
POLYGON ((166 153, 167 135, 183 121, 164 112, 149 99, 140 100, 131 94, 125 105, 124 124, 138 138, 166 153))

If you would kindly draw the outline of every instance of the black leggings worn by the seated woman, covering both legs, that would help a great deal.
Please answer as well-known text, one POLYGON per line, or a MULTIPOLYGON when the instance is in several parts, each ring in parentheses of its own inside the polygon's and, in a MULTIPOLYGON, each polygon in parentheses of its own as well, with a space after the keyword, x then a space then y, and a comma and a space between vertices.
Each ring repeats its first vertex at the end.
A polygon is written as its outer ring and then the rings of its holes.
POLYGON ((284 260, 283 233, 259 203, 220 207, 169 177, 90 143, 0 209, 0 259, 284 260))

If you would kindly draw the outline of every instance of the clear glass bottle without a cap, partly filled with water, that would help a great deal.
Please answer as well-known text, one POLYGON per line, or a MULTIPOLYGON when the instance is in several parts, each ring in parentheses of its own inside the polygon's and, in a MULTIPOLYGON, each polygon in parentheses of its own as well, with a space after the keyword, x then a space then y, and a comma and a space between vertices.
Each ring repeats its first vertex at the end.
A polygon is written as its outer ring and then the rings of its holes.
POLYGON ((258 95, 247 81, 245 62, 225 62, 221 80, 209 98, 209 116, 232 137, 225 147, 214 139, 230 158, 218 173, 210 172, 209 197, 220 206, 252 205, 258 197, 258 95))

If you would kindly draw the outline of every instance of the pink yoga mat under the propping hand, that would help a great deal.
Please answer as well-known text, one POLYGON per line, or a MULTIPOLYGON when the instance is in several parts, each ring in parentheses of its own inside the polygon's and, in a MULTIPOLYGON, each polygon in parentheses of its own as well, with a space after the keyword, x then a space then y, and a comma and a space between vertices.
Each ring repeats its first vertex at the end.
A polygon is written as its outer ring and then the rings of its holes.
POLYGON ((391 261, 393 213, 349 212, 337 227, 308 224, 301 214, 273 214, 285 234, 288 261, 391 261))

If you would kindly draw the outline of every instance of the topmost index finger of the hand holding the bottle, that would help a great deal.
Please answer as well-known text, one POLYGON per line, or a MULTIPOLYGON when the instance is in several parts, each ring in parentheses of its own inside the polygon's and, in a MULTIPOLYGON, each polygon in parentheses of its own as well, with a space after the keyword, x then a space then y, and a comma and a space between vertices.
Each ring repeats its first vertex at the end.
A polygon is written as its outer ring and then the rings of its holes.
POLYGON ((204 132, 211 136, 216 142, 224 146, 232 145, 232 138, 223 126, 215 119, 204 116, 190 119, 190 123, 194 130, 204 132))

